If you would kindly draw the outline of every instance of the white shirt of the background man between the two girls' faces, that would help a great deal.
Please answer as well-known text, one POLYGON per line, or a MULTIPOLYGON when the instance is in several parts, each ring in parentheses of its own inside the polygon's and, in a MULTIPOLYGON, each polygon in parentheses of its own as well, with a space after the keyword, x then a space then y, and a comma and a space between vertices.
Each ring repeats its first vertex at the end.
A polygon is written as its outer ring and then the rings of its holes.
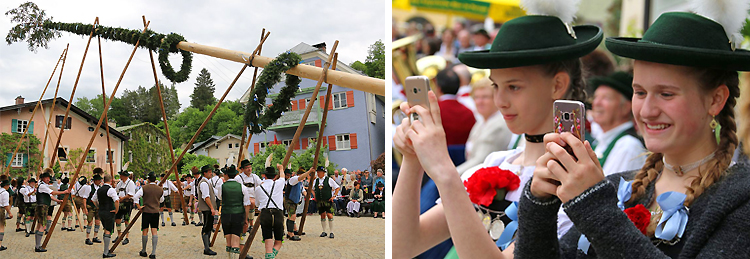
MULTIPOLYGON (((631 127, 633 127, 633 122, 628 121, 607 132, 598 134, 599 138, 596 139, 597 144, 596 149, 594 149, 596 156, 602 158, 604 151, 607 150, 607 147, 609 147, 609 144, 612 143, 615 137, 631 127)), ((604 175, 641 169, 643 164, 646 163, 645 153, 646 149, 640 140, 631 135, 622 136, 617 140, 614 147, 612 147, 607 161, 602 165, 604 175)))

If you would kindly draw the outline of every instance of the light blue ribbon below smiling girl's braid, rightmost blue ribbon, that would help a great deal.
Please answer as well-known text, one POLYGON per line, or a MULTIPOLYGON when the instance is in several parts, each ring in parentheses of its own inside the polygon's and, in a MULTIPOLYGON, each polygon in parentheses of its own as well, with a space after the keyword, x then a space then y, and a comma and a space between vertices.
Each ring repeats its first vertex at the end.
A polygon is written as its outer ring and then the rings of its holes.
POLYGON ((656 198, 662 211, 659 224, 656 225, 656 238, 672 240, 675 236, 682 237, 687 225, 688 213, 685 208, 687 195, 679 192, 665 192, 656 198))

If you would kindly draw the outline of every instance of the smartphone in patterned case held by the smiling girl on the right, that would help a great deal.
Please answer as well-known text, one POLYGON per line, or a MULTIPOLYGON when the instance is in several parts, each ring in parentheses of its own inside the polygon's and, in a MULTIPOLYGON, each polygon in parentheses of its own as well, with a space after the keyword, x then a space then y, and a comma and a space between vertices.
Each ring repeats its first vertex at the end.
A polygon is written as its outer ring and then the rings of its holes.
MULTIPOLYGON (((586 132, 586 108, 582 102, 557 100, 553 105, 553 122, 555 133, 570 132, 583 141, 586 132)), ((573 154, 570 145, 565 146, 569 154, 573 154)))

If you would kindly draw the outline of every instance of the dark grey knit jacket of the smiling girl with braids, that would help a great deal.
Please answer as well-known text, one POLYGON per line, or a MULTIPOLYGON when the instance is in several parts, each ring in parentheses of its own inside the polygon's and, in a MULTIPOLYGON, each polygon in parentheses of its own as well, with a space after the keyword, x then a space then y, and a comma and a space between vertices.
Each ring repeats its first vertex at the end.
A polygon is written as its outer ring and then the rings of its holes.
MULTIPOLYGON (((675 246, 655 246, 617 207, 617 184, 622 176, 630 180, 635 172, 614 174, 563 204, 575 226, 559 241, 557 198, 540 200, 531 195, 527 183, 519 206, 519 228, 515 257, 523 258, 750 258, 750 167, 735 164, 711 185, 689 208, 689 219, 681 241, 675 246), (578 250, 583 232, 591 242, 588 255, 578 250), (677 249, 676 251, 674 249, 677 249)), ((636 204, 653 200, 652 182, 645 197, 636 204)))

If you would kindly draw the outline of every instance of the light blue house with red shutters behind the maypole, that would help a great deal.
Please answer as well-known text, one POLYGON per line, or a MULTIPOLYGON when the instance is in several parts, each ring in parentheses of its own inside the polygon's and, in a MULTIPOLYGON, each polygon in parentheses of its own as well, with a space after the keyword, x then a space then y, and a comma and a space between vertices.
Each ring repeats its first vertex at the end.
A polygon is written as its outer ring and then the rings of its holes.
MULTIPOLYGON (((325 44, 310 46, 300 43, 289 51, 299 54, 302 63, 322 67, 328 60, 325 44)), ((362 74, 341 61, 336 64, 336 70, 347 73, 362 74)), ((253 135, 250 138, 249 152, 258 154, 265 150, 270 141, 276 137, 283 144, 292 142, 297 126, 302 119, 305 109, 310 105, 312 93, 317 84, 316 80, 301 78, 300 89, 292 100, 292 108, 285 112, 266 133, 253 135)), ((278 95, 283 82, 274 86, 269 94, 267 104, 278 95)), ((324 83, 318 93, 320 100, 325 100, 328 84, 324 83)), ((385 152, 385 99, 383 96, 352 90, 341 86, 332 86, 332 102, 328 108, 328 117, 324 130, 323 144, 330 144, 325 151, 331 162, 339 168, 365 170, 370 168, 370 161, 385 152)), ((246 103, 250 89, 240 99, 246 103)), ((300 135, 299 143, 294 147, 295 152, 304 152, 307 148, 315 148, 315 140, 323 116, 324 102, 315 102, 305 127, 300 135)))

